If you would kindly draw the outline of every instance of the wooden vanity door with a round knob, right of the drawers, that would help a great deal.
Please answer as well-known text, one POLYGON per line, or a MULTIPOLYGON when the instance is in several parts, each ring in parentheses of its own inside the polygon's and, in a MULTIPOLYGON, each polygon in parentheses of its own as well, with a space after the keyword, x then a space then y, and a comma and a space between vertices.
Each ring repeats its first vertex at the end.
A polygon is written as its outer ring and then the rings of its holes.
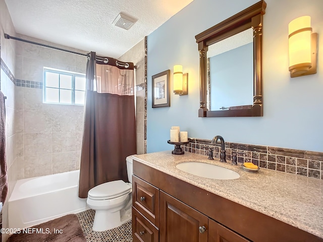
POLYGON ((163 191, 159 191, 159 212, 160 242, 207 242, 208 218, 204 214, 163 191))

